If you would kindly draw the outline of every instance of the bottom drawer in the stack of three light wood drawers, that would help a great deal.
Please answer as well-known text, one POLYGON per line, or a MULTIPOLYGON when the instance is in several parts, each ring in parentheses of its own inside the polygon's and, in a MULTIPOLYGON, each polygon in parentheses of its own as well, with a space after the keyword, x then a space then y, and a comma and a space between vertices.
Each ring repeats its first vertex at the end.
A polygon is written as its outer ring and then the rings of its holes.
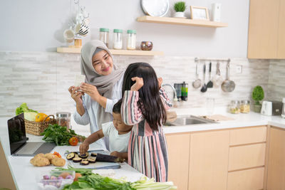
POLYGON ((227 190, 263 189, 264 167, 229 172, 227 190))

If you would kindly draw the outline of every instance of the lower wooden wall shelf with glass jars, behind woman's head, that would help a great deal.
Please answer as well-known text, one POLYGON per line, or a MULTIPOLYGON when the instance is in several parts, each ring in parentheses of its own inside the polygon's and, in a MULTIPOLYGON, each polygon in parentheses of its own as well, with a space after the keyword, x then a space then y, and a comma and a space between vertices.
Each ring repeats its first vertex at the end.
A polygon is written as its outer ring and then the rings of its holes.
MULTIPOLYGON (((81 48, 58 47, 58 53, 81 53, 81 48)), ((113 50, 110 49, 113 55, 124 56, 163 56, 162 51, 139 51, 139 50, 113 50)))

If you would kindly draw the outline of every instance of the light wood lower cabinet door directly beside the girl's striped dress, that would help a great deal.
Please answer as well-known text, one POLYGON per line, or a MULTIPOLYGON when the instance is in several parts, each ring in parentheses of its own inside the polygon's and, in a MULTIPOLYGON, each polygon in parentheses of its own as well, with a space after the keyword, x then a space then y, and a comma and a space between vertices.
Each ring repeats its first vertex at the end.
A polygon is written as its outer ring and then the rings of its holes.
POLYGON ((177 189, 188 189, 190 134, 166 134, 168 181, 177 189))

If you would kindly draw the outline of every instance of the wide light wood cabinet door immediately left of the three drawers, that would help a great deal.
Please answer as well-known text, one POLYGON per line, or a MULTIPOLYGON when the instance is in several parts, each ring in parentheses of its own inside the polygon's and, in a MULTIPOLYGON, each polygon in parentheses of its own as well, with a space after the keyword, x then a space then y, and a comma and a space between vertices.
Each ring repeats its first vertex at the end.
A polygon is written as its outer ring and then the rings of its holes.
POLYGON ((228 157, 229 131, 191 134, 189 189, 227 189, 228 157))

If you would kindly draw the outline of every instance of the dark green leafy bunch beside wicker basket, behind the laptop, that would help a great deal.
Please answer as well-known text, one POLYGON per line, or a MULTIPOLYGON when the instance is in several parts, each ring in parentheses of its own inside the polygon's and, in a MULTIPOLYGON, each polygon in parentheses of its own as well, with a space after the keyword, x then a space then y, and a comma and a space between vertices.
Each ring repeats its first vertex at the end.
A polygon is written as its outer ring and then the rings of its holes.
POLYGON ((44 135, 44 141, 55 142, 58 146, 70 145, 68 140, 74 136, 78 137, 78 139, 85 139, 85 137, 76 134, 74 130, 67 130, 66 127, 62 127, 57 124, 48 125, 48 128, 46 128, 41 135, 44 135))

